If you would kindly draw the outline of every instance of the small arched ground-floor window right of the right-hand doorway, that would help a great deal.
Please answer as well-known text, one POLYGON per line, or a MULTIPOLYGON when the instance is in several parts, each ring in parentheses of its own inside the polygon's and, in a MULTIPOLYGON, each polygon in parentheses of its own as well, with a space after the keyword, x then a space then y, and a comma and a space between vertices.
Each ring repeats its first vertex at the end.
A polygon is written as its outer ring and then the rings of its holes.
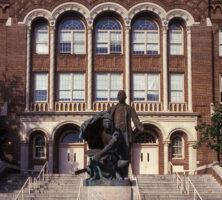
POLYGON ((180 136, 174 136, 171 139, 172 158, 183 157, 183 140, 180 136))

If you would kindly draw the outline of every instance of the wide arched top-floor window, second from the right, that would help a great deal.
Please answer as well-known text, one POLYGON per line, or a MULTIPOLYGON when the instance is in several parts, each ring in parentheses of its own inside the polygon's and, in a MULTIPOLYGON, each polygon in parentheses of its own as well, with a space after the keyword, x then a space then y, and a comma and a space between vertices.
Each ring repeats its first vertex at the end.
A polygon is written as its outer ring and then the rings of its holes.
POLYGON ((132 26, 133 54, 158 54, 159 30, 151 19, 139 19, 132 26))

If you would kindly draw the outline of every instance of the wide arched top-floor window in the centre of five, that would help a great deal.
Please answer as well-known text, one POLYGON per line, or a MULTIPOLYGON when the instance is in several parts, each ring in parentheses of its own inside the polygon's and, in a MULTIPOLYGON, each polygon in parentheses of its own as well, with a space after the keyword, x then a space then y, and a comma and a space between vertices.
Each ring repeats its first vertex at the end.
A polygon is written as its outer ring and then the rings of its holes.
POLYGON ((113 18, 101 19, 96 24, 96 53, 122 52, 122 28, 113 18))

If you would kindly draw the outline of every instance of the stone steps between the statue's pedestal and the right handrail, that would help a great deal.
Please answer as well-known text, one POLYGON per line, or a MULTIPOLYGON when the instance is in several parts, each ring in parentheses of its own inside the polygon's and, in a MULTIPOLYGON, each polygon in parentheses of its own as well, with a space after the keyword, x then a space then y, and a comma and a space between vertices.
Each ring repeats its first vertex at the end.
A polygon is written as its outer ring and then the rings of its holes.
POLYGON ((173 179, 173 175, 137 175, 141 200, 190 200, 189 195, 181 194, 173 179))

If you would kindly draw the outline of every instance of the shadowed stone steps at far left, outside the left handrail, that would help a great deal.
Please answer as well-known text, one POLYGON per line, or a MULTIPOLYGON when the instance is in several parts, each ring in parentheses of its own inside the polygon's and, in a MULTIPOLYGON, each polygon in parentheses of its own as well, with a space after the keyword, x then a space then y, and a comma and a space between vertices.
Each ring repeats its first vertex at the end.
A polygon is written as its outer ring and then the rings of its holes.
POLYGON ((27 175, 8 174, 0 179, 0 200, 13 199, 13 195, 18 194, 25 183, 27 175))

